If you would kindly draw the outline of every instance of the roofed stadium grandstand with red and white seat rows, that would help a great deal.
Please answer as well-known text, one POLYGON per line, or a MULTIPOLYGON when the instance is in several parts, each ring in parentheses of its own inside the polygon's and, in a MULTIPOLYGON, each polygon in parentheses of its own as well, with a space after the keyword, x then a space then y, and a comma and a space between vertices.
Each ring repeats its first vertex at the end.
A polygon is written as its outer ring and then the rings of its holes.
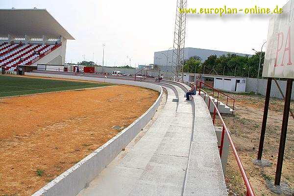
POLYGON ((74 38, 46 9, 0 9, 0 20, 0 67, 5 72, 64 65, 67 40, 74 38))

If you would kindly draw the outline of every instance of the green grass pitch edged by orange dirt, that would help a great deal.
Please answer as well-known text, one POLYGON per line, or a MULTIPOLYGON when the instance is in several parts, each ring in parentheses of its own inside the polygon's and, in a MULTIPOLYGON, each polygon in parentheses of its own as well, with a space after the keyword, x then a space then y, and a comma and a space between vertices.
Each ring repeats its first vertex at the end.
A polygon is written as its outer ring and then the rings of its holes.
POLYGON ((110 86, 112 84, 0 75, 0 97, 110 86))

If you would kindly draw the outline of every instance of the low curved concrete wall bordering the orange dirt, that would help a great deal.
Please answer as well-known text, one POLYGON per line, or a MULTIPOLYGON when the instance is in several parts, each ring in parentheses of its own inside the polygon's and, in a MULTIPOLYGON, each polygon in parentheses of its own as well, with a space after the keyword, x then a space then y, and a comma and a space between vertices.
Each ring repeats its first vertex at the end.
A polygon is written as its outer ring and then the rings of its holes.
POLYGON ((34 193, 33 196, 75 196, 78 194, 79 191, 85 188, 87 183, 91 182, 94 177, 127 146, 141 129, 146 126, 155 114, 162 98, 162 88, 160 86, 145 82, 46 73, 25 73, 25 75, 99 82, 104 82, 105 80, 105 82, 108 83, 140 86, 160 92, 154 104, 134 123, 123 129, 118 135, 75 164, 72 168, 56 177, 46 186, 34 193))

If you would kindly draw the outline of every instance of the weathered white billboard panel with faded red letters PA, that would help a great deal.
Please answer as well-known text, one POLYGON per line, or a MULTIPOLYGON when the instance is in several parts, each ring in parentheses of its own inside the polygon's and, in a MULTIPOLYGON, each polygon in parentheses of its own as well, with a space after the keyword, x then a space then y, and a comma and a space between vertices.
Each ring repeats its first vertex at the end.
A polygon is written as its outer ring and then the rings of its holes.
POLYGON ((294 78, 294 0, 270 19, 262 76, 294 78))

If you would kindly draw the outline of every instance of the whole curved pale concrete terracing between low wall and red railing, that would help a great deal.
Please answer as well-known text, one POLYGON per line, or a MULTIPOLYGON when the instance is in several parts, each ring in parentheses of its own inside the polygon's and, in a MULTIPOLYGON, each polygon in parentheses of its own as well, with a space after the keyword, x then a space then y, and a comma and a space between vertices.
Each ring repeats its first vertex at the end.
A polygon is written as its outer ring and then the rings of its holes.
POLYGON ((186 101, 183 84, 157 84, 168 94, 162 111, 77 196, 227 196, 204 100, 186 101))

